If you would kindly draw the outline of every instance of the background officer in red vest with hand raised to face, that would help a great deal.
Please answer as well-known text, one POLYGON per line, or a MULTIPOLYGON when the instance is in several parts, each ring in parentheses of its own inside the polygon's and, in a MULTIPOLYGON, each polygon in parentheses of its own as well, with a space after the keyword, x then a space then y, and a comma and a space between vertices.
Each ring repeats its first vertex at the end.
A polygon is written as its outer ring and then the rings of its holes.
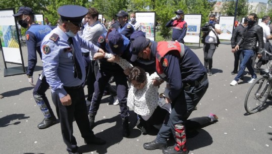
POLYGON ((172 41, 178 41, 184 43, 183 38, 187 32, 187 23, 183 19, 184 12, 178 10, 175 12, 176 17, 173 17, 167 24, 166 27, 173 27, 172 41))

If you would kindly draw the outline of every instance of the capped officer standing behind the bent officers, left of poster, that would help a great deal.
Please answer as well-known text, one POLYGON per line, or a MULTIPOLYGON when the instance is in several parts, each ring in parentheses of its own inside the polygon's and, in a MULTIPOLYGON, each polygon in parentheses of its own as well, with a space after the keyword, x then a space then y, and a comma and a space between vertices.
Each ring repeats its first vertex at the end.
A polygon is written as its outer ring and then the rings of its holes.
POLYGON ((130 35, 134 32, 134 26, 128 23, 128 13, 121 10, 115 16, 118 17, 120 24, 120 27, 117 29, 118 32, 130 39, 130 35))

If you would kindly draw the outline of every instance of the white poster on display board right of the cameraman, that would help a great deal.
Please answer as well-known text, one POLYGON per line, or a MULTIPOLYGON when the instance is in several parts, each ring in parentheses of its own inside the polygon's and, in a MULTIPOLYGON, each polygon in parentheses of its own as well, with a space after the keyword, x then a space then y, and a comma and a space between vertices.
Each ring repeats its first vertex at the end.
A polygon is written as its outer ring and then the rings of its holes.
POLYGON ((219 25, 221 27, 221 34, 218 35, 219 39, 231 40, 234 26, 234 18, 234 16, 219 17, 219 25))

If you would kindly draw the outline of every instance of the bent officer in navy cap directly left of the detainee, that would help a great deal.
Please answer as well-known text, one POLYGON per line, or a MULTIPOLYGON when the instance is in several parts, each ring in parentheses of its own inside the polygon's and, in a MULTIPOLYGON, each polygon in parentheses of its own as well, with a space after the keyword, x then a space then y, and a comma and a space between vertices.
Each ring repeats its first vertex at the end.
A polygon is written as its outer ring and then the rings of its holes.
MULTIPOLYGON (((120 34, 116 29, 110 29, 108 34, 100 36, 98 40, 98 46, 103 48, 106 53, 119 55, 127 61, 130 60, 131 54, 129 52, 130 41, 124 35, 120 34), (107 41, 106 41, 107 40, 107 41)), ((128 137, 129 124, 128 124, 128 107, 127 107, 127 95, 128 84, 127 76, 124 74, 124 70, 116 63, 107 62, 106 59, 99 60, 100 69, 96 76, 94 83, 94 94, 89 111, 90 125, 94 127, 95 115, 99 109, 100 101, 105 89, 105 85, 111 76, 114 76, 117 86, 117 96, 119 100, 119 106, 121 110, 121 118, 123 125, 123 136, 128 137)))

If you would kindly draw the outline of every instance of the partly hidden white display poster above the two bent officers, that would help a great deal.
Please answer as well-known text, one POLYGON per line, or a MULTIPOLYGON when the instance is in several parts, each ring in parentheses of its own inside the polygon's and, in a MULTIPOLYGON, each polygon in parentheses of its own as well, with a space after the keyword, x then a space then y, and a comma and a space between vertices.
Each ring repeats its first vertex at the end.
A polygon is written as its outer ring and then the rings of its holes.
POLYGON ((140 23, 140 30, 145 33, 145 37, 155 41, 156 13, 155 12, 135 12, 136 21, 140 23))

